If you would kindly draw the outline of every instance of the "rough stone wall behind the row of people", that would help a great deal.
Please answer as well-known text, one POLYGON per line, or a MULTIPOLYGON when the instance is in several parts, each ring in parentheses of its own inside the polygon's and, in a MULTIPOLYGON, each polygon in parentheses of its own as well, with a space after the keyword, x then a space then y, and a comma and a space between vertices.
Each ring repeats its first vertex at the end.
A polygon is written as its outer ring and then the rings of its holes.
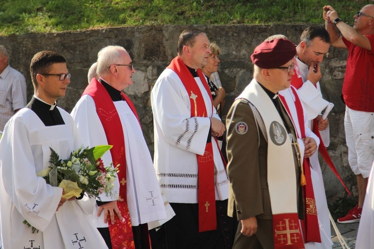
MULTIPOLYGON (((0 37, 0 44, 9 49, 10 64, 26 77, 27 99, 33 94, 29 76, 32 56, 41 50, 54 50, 65 56, 72 74, 66 96, 58 100, 58 105, 70 112, 87 85, 87 72, 96 61, 98 51, 107 45, 125 47, 134 61, 136 69, 134 84, 125 92, 134 101, 143 132, 153 154, 153 116, 150 105, 150 91, 158 76, 177 55, 179 34, 191 26, 143 26, 106 28, 74 32, 23 34, 0 37)), ((307 25, 197 25, 206 32, 210 41, 215 41, 222 49, 219 76, 226 90, 224 114, 234 98, 250 82, 253 74, 249 58, 254 48, 266 37, 284 34, 296 44, 307 25)), ((348 149, 345 143, 344 110, 340 99, 345 74, 347 51, 329 50, 328 58, 321 64, 323 78, 321 88, 324 98, 335 104, 330 114, 331 143, 329 153, 346 184, 357 196, 356 177, 348 164, 348 149)), ((321 158, 320 158, 321 159, 321 158)), ((329 202, 339 197, 347 197, 340 182, 333 176, 326 163, 322 164, 325 188, 329 202)))

